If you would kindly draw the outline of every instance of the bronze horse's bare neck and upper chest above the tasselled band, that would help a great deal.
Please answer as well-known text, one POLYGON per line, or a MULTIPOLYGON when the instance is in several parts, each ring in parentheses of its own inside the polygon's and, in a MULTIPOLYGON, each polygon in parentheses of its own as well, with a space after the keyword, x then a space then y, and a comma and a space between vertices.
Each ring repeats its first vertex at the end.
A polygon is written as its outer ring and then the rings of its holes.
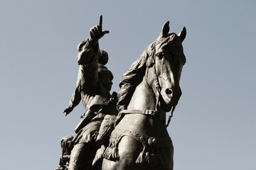
MULTIPOLYGON (((129 111, 156 110, 156 95, 153 89, 146 84, 145 78, 137 86, 134 94, 127 106, 129 111)), ((155 115, 144 115, 134 112, 127 114, 122 118, 118 125, 122 128, 136 130, 139 133, 152 135, 155 137, 168 136, 166 130, 166 113, 157 109, 155 115), (159 133, 161 131, 161 133, 159 133)))

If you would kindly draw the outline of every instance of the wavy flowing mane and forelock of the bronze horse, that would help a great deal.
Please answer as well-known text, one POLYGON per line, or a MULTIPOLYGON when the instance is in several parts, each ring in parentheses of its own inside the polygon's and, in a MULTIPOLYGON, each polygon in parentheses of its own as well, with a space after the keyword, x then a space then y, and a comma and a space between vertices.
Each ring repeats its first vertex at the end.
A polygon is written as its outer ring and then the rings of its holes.
POLYGON ((159 47, 169 45, 171 42, 174 42, 177 37, 178 36, 175 33, 170 33, 166 38, 156 38, 154 42, 146 47, 144 52, 142 52, 142 55, 140 55, 139 58, 132 63, 132 66, 129 68, 129 70, 122 75, 121 81, 119 83, 120 91, 118 93, 117 102, 118 111, 127 109, 129 101, 131 100, 137 85, 142 81, 144 77, 146 67, 152 67, 154 65, 156 45, 159 47))

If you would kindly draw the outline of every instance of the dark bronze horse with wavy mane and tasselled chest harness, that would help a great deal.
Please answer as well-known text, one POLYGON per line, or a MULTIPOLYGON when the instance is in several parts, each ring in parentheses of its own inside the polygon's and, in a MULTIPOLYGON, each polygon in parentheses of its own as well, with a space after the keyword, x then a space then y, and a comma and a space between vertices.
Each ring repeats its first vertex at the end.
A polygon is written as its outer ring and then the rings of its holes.
POLYGON ((173 113, 181 97, 186 28, 178 35, 169 30, 168 21, 121 78, 119 113, 102 169, 173 169, 174 146, 166 113, 173 113))

